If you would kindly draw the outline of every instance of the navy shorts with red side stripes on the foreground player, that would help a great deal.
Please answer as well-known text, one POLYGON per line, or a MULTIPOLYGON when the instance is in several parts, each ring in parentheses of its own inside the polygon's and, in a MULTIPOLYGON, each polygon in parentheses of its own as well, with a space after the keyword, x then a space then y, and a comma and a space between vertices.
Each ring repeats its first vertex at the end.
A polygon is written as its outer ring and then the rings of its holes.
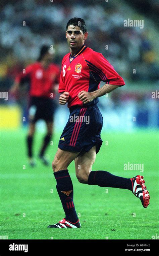
POLYGON ((70 107, 67 124, 60 136, 58 148, 71 152, 89 152, 96 146, 96 154, 102 145, 103 117, 97 107, 70 107))

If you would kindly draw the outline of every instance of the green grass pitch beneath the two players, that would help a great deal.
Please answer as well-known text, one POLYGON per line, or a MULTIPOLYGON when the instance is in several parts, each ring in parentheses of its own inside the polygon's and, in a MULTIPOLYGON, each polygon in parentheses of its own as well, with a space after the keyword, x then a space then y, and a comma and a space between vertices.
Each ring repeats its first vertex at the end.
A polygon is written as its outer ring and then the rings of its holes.
MULTIPOLYGON (((53 159, 60 134, 47 154, 53 159)), ((74 186, 74 204, 81 229, 48 229, 64 217, 50 167, 40 161, 28 166, 25 130, 1 131, 1 236, 8 239, 152 239, 159 234, 158 216, 158 136, 157 132, 102 133, 103 145, 93 170, 106 170, 126 178, 144 175, 150 193, 147 209, 140 199, 125 189, 80 184, 74 163, 68 167, 74 186), (108 141, 108 145, 105 145, 108 141), (144 163, 144 172, 124 170, 124 163, 144 163), (52 193, 53 192, 53 193, 52 193), (108 192, 108 193, 106 193, 108 192)), ((35 137, 38 155, 43 134, 35 137)))

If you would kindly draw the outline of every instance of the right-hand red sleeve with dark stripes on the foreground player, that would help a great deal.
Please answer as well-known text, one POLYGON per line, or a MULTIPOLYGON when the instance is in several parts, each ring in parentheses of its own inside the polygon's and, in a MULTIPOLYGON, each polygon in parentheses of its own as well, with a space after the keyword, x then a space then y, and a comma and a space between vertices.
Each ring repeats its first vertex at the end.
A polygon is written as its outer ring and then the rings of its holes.
POLYGON ((101 53, 96 53, 89 65, 98 74, 101 81, 110 85, 125 85, 123 78, 115 71, 114 67, 104 58, 101 53))

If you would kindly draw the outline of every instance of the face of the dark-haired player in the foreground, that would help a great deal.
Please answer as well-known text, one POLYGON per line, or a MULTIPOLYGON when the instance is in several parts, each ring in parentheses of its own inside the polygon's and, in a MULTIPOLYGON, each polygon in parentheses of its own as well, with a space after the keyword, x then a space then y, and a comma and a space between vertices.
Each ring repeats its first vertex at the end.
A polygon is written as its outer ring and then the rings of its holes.
POLYGON ((66 31, 66 38, 69 47, 73 49, 80 49, 85 43, 88 32, 83 33, 80 27, 69 25, 66 31))

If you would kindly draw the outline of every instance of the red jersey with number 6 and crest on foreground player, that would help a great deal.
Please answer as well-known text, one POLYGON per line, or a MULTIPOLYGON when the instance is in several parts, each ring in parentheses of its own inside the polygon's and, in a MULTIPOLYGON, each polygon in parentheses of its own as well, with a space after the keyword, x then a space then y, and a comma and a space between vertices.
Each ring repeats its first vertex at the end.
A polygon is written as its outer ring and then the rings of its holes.
MULTIPOLYGON (((110 85, 125 85, 122 77, 104 56, 85 44, 75 55, 68 53, 64 56, 58 92, 69 92, 68 107, 83 106, 83 102, 77 97, 78 93, 83 90, 96 91, 101 81, 110 85)), ((85 106, 95 105, 98 101, 96 98, 85 106)))

